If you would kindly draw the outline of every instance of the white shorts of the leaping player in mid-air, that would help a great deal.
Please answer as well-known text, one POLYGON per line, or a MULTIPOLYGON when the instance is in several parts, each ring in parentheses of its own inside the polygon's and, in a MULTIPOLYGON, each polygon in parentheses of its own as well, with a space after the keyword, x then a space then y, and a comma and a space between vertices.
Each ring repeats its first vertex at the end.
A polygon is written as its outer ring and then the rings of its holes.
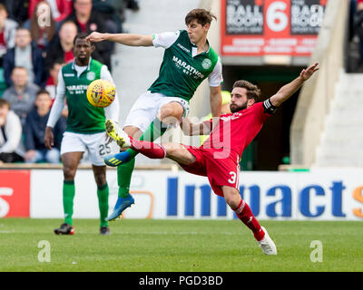
POLYGON ((188 115, 189 103, 182 98, 166 97, 158 92, 145 92, 132 105, 123 127, 133 126, 139 128, 142 132, 146 131, 158 115, 162 105, 169 102, 179 102, 184 109, 183 117, 188 115))

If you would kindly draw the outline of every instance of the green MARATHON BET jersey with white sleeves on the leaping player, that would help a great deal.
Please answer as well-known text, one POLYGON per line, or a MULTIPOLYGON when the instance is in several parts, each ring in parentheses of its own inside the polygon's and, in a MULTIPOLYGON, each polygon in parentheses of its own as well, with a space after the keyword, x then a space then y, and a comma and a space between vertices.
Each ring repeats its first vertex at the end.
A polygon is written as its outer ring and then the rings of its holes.
POLYGON ((159 77, 149 88, 167 97, 179 97, 190 101, 198 86, 209 78, 210 86, 221 85, 221 60, 210 47, 207 52, 197 54, 197 46, 191 43, 185 30, 176 33, 154 34, 155 47, 162 46, 165 52, 159 77))

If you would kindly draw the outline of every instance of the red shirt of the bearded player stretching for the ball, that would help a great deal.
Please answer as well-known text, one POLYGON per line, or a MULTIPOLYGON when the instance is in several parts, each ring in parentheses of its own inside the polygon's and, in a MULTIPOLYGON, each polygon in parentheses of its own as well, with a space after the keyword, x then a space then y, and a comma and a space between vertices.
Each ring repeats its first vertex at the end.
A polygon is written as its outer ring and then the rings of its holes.
MULTIPOLYGON (((271 115, 265 112, 264 102, 257 102, 246 110, 223 114, 211 131, 210 138, 201 148, 231 150, 231 154, 241 157, 243 150, 260 132, 262 125, 271 115)), ((210 121, 212 122, 212 120, 210 121)))

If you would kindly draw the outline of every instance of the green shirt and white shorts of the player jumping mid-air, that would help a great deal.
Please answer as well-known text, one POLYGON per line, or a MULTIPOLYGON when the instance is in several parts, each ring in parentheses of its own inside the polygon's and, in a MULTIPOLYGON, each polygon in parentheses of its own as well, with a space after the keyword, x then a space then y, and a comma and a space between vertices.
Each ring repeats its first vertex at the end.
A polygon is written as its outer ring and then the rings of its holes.
POLYGON ((207 52, 197 54, 198 48, 191 43, 185 30, 153 34, 152 43, 154 47, 165 49, 159 77, 133 104, 123 125, 141 131, 149 127, 165 103, 179 102, 185 117, 201 82, 208 78, 211 87, 219 87, 223 81, 218 54, 211 47, 207 52))

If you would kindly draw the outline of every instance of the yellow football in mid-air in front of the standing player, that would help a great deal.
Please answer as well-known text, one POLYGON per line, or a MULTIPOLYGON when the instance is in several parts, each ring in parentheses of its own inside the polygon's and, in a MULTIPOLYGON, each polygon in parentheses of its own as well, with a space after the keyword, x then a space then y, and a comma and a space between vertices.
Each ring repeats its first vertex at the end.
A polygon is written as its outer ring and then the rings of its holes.
POLYGON ((114 100, 116 89, 112 82, 95 80, 88 85, 87 100, 94 107, 105 108, 114 100))

